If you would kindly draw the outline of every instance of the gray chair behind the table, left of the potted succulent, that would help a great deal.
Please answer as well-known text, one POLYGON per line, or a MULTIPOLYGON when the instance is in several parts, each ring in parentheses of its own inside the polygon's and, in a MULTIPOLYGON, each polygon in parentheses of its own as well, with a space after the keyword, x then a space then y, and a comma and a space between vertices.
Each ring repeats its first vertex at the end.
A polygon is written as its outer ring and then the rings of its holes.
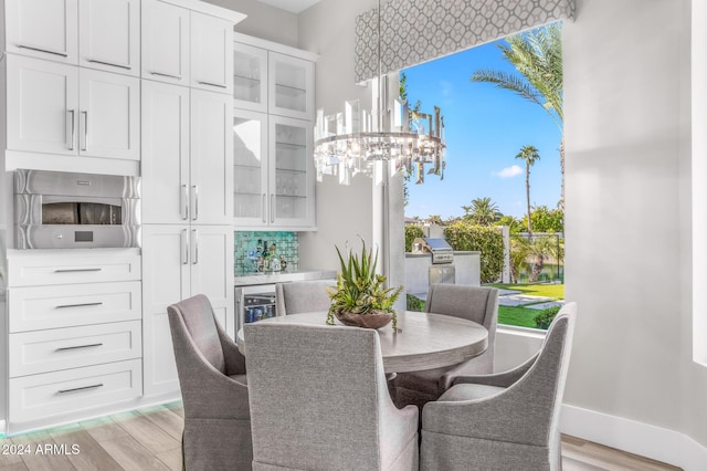
POLYGON ((277 315, 328 311, 331 299, 327 286, 336 286, 334 280, 296 281, 275 285, 277 315))

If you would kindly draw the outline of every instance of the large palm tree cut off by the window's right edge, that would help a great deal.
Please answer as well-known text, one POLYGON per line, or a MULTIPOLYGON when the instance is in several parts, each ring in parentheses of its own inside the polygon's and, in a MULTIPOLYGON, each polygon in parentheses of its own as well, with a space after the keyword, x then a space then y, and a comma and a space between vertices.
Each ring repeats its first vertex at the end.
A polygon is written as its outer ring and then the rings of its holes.
MULTIPOLYGON (((542 106, 562 132, 562 24, 548 24, 529 33, 506 39, 499 45, 504 57, 520 75, 500 71, 477 70, 472 82, 493 83, 499 88, 517 93, 525 100, 542 106)), ((564 208, 564 137, 560 142, 560 172, 562 175, 560 209, 564 208)))

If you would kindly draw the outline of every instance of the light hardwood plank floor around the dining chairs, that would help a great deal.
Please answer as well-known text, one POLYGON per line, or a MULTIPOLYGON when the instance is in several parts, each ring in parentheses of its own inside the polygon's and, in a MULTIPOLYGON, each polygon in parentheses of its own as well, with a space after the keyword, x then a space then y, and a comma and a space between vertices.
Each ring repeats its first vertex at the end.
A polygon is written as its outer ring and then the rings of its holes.
MULTIPOLYGON (((0 470, 181 470, 181 404, 0 437, 0 470)), ((612 448, 562 437, 564 471, 677 470, 612 448)))

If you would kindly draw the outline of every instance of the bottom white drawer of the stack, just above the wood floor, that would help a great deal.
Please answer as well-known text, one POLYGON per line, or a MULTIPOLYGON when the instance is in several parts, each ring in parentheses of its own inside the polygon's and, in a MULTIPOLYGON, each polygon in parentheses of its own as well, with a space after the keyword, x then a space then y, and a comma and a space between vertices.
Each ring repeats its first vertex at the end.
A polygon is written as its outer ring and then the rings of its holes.
POLYGON ((108 363, 10 379, 9 419, 12 423, 131 399, 143 394, 139 359, 108 363))

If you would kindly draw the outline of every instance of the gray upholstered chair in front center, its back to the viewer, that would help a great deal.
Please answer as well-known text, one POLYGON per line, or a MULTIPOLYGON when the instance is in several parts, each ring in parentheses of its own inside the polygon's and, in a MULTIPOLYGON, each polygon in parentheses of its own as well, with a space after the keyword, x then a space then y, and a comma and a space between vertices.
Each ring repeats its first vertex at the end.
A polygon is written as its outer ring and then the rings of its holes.
POLYGON ((244 334, 254 470, 418 470, 418 409, 393 405, 376 331, 258 322, 244 334))

